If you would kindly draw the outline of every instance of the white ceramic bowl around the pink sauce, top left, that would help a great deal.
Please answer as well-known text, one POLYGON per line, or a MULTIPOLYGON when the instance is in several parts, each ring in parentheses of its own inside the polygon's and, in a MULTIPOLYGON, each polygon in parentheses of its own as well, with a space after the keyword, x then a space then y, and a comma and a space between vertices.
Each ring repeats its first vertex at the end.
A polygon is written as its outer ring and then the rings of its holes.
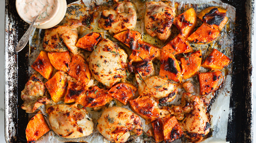
MULTIPOLYGON (((19 6, 19 3, 21 3, 21 0, 16 0, 16 9, 19 16, 26 23, 31 24, 32 21, 29 20, 26 16, 24 16, 23 13, 21 13, 21 10, 19 8, 22 8, 22 7, 19 6)), ((47 29, 57 25, 64 18, 66 14, 66 10, 67 10, 66 0, 57 0, 57 6, 55 7, 55 10, 53 11, 53 13, 49 15, 49 18, 43 22, 36 23, 34 27, 40 28, 40 29, 47 29)))

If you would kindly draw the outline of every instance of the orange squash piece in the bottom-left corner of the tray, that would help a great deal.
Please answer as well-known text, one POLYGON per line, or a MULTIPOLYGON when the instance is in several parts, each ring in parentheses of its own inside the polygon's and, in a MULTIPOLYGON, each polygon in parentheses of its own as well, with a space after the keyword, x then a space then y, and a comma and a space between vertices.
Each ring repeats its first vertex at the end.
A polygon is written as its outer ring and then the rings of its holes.
POLYGON ((26 128, 26 138, 28 143, 35 142, 44 134, 50 131, 43 114, 39 111, 28 123, 26 128))

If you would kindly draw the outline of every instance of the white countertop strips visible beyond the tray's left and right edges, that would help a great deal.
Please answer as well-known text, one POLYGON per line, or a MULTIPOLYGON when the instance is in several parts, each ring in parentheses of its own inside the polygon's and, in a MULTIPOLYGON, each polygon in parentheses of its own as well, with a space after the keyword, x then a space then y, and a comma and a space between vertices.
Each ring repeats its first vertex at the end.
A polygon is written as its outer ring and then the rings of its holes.
MULTIPOLYGON (((255 8, 256 9, 256 8, 255 8)), ((4 133, 4 24, 5 24, 5 19, 4 19, 4 14, 5 14, 5 1, 0 0, 0 143, 5 142, 5 133, 4 133)), ((256 24, 256 18, 254 18, 254 23, 256 24)), ((254 29, 254 33, 256 31, 256 26, 254 29)), ((254 37, 254 41, 256 41, 256 36, 254 37)), ((256 58, 254 58, 253 63, 256 64, 256 58)), ((256 83, 256 72, 254 72, 253 76, 255 77, 253 82, 256 83)), ((253 85, 254 91, 256 91, 256 84, 253 85)), ((256 120, 256 92, 253 94, 253 104, 254 109, 253 109, 253 114, 254 120, 256 120)), ((256 124, 253 125, 254 130, 254 135, 256 135, 256 124)), ((254 142, 256 143, 256 138, 254 139, 254 142)))

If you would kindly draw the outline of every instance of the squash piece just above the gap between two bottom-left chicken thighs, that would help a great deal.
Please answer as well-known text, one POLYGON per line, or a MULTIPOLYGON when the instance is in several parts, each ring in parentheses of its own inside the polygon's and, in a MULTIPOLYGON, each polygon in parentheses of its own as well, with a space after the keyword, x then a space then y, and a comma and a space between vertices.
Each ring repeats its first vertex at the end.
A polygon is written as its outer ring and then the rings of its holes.
POLYGON ((99 107, 109 103, 113 98, 107 94, 107 90, 97 86, 85 92, 84 95, 78 98, 78 103, 84 107, 99 107))

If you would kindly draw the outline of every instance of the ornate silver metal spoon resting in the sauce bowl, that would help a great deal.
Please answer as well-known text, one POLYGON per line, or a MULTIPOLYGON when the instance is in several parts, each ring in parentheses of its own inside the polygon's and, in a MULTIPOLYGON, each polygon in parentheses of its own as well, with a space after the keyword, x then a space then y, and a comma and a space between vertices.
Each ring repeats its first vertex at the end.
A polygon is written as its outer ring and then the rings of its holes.
POLYGON ((37 16, 33 19, 32 23, 31 23, 30 26, 29 26, 29 29, 26 31, 26 33, 22 36, 22 38, 21 38, 20 41, 18 42, 17 47, 16 47, 16 49, 15 49, 16 52, 21 51, 21 50, 26 46, 26 44, 28 43, 30 32, 31 32, 32 27, 34 26, 35 21, 37 20, 38 16, 39 16, 39 15, 37 15, 37 16))

